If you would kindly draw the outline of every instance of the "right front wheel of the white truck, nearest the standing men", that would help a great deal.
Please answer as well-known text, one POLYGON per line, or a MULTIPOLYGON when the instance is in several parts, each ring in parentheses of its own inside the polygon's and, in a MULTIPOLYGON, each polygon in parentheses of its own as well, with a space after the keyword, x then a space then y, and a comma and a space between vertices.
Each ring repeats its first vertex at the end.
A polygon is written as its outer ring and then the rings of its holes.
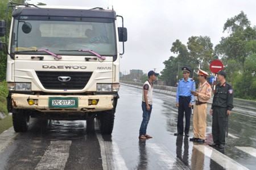
POLYGON ((101 134, 111 135, 114 127, 115 110, 107 110, 101 113, 100 129, 101 134))

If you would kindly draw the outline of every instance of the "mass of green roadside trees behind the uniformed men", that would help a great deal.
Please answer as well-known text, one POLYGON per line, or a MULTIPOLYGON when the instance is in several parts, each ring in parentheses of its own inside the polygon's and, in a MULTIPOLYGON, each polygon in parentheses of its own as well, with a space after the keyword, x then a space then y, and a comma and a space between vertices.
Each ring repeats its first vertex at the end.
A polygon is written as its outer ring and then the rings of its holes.
MULTIPOLYGON (((214 50, 208 36, 191 36, 187 46, 176 40, 172 43, 171 52, 177 56, 170 56, 163 62, 165 68, 160 79, 174 86, 176 76, 182 77, 181 67, 196 71, 200 68, 210 73, 210 62, 218 59, 224 63, 224 71, 228 75, 226 81, 233 85, 234 96, 256 99, 256 27, 250 24, 243 11, 228 19, 223 32, 228 31, 229 35, 222 37, 214 50)), ((197 81, 197 77, 194 80, 197 81)))

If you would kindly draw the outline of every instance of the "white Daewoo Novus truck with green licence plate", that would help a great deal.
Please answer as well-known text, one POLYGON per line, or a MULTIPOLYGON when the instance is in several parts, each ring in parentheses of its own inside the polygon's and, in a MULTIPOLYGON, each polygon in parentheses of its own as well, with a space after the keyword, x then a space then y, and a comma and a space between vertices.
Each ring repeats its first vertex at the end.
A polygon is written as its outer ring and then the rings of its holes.
POLYGON ((97 118, 102 134, 112 134, 127 40, 122 16, 100 7, 10 2, 7 9, 13 18, 11 24, 0 21, 0 35, 7 37, 10 25, 9 44, 1 42, 0 48, 7 51, 7 109, 14 130, 27 131, 30 117, 88 123, 97 118))

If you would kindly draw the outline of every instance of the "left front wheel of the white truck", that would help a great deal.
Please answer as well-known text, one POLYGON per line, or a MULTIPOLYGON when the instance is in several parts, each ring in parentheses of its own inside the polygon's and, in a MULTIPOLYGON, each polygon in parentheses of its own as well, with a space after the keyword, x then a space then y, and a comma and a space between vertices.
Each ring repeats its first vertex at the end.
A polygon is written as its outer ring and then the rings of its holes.
POLYGON ((26 132, 30 123, 30 115, 22 110, 13 113, 13 127, 15 132, 26 132))

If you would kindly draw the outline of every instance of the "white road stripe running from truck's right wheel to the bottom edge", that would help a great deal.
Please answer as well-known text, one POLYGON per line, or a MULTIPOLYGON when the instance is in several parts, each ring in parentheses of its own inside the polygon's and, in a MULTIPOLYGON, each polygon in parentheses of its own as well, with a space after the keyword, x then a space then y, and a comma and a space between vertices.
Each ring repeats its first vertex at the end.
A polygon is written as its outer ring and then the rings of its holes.
MULTIPOLYGON (((98 123, 95 123, 95 129, 99 130, 98 123)), ((120 154, 117 143, 105 141, 101 134, 96 132, 98 142, 101 147, 102 167, 103 169, 128 169, 125 160, 120 154)))

